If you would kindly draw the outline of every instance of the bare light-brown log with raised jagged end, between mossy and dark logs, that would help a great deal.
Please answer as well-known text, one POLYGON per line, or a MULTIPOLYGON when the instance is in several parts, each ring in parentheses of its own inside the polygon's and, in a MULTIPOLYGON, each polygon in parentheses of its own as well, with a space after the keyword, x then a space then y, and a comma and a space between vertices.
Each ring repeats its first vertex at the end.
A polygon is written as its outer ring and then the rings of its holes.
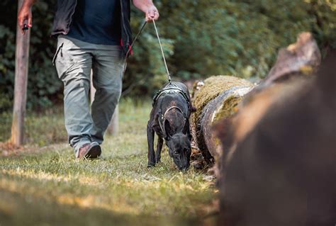
POLYGON ((296 43, 279 50, 267 77, 245 96, 239 111, 230 118, 231 127, 235 128, 235 143, 244 139, 273 103, 280 100, 279 104, 286 104, 286 99, 304 89, 304 84, 317 71, 320 62, 320 50, 310 33, 301 33, 296 43))

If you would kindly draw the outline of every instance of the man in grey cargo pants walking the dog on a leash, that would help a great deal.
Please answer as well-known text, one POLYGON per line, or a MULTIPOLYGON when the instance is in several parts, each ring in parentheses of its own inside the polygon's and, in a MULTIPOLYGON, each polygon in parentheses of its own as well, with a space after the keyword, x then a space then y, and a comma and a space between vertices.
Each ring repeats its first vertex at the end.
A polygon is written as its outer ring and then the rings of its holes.
MULTIPOLYGON (((18 13, 21 28, 26 20, 32 26, 35 1, 23 1, 18 13)), ((133 0, 133 4, 148 22, 159 18, 152 0, 133 0)), ((65 86, 69 144, 77 158, 99 157, 104 132, 121 96, 124 60, 132 43, 130 1, 57 0, 52 35, 57 36, 52 62, 65 86), (90 112, 91 69, 96 94, 90 112)))

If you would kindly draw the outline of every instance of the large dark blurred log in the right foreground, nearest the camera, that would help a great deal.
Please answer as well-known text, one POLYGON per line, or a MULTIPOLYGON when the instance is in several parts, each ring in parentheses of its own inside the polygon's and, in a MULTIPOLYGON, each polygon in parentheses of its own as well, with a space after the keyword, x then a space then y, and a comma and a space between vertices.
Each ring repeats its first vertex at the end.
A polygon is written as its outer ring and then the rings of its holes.
POLYGON ((222 159, 218 225, 336 222, 335 60, 333 52, 317 77, 251 93, 229 131, 228 121, 217 125, 230 149, 222 159))

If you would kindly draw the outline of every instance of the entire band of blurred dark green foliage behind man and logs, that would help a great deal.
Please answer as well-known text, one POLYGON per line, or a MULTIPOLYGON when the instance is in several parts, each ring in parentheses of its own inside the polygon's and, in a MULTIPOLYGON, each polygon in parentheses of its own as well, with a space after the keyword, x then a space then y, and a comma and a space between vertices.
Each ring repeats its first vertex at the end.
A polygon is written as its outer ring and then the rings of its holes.
MULTIPOLYGON (((62 83, 50 38, 56 0, 33 7, 30 40, 28 110, 62 103, 62 83)), ((174 80, 230 74, 247 79, 266 76, 277 50, 310 31, 323 55, 336 47, 334 0, 157 0, 159 34, 174 80)), ((17 1, 0 1, 0 112, 11 111, 15 66, 17 1)), ((138 33, 144 15, 133 6, 131 24, 138 33)), ((166 80, 159 45, 148 24, 134 45, 123 81, 123 96, 153 96, 166 80)))

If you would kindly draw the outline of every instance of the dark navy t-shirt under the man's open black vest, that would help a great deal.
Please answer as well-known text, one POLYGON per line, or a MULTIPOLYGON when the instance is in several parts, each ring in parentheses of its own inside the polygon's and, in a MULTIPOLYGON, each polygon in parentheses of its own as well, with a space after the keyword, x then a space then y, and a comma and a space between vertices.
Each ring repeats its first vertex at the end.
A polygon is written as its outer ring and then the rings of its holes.
POLYGON ((120 1, 78 0, 67 35, 86 43, 120 45, 120 1))

